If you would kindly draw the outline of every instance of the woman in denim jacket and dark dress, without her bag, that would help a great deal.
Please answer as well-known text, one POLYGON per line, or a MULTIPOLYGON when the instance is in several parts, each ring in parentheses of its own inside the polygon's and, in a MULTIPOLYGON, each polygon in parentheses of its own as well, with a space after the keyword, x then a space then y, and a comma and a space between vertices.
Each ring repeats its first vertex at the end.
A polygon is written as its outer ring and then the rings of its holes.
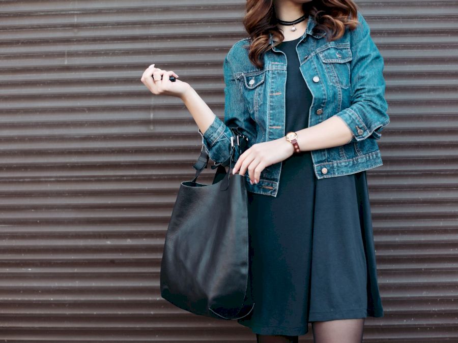
POLYGON ((227 53, 224 121, 173 71, 141 81, 180 97, 216 164, 244 175, 255 306, 239 323, 258 342, 362 341, 383 309, 365 171, 382 165, 389 123, 383 58, 351 0, 247 0, 249 37, 227 53), (162 79, 161 79, 162 78, 162 79))

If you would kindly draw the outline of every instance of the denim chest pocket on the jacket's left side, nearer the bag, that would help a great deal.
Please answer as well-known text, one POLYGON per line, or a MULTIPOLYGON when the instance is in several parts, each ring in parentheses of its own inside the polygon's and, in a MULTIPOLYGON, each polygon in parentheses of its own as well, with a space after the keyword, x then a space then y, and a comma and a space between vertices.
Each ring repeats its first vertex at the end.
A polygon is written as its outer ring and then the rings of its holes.
MULTIPOLYGON (((264 101, 266 71, 242 73, 240 76, 243 98, 251 117, 260 125, 260 108, 264 101)), ((260 125, 261 127, 261 125, 260 125)))

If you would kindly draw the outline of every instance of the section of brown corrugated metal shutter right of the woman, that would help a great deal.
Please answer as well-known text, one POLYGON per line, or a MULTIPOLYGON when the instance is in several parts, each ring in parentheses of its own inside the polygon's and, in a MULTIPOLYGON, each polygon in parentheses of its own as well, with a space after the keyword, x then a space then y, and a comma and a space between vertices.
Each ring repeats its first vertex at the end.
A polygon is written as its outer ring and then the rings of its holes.
POLYGON ((371 205, 386 316, 367 341, 458 342, 458 3, 366 2, 391 123, 371 205))

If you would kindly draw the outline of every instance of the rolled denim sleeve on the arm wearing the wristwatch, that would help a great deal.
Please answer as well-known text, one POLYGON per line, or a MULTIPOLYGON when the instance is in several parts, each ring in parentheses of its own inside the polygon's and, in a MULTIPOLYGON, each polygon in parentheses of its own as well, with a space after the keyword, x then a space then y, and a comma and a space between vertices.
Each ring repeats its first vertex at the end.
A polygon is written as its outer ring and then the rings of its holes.
POLYGON ((370 28, 358 13, 360 24, 351 34, 351 106, 335 115, 345 121, 352 132, 351 141, 380 139, 390 122, 386 113, 383 57, 370 37, 370 28))

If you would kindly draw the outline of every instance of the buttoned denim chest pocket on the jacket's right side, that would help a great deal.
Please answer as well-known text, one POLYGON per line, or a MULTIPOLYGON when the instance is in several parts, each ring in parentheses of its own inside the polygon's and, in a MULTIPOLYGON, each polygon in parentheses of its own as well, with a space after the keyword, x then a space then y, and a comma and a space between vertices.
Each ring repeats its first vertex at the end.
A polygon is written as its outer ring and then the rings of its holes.
POLYGON ((350 61, 352 60, 352 51, 349 47, 335 47, 322 50, 318 53, 329 80, 337 87, 350 87, 350 61))

